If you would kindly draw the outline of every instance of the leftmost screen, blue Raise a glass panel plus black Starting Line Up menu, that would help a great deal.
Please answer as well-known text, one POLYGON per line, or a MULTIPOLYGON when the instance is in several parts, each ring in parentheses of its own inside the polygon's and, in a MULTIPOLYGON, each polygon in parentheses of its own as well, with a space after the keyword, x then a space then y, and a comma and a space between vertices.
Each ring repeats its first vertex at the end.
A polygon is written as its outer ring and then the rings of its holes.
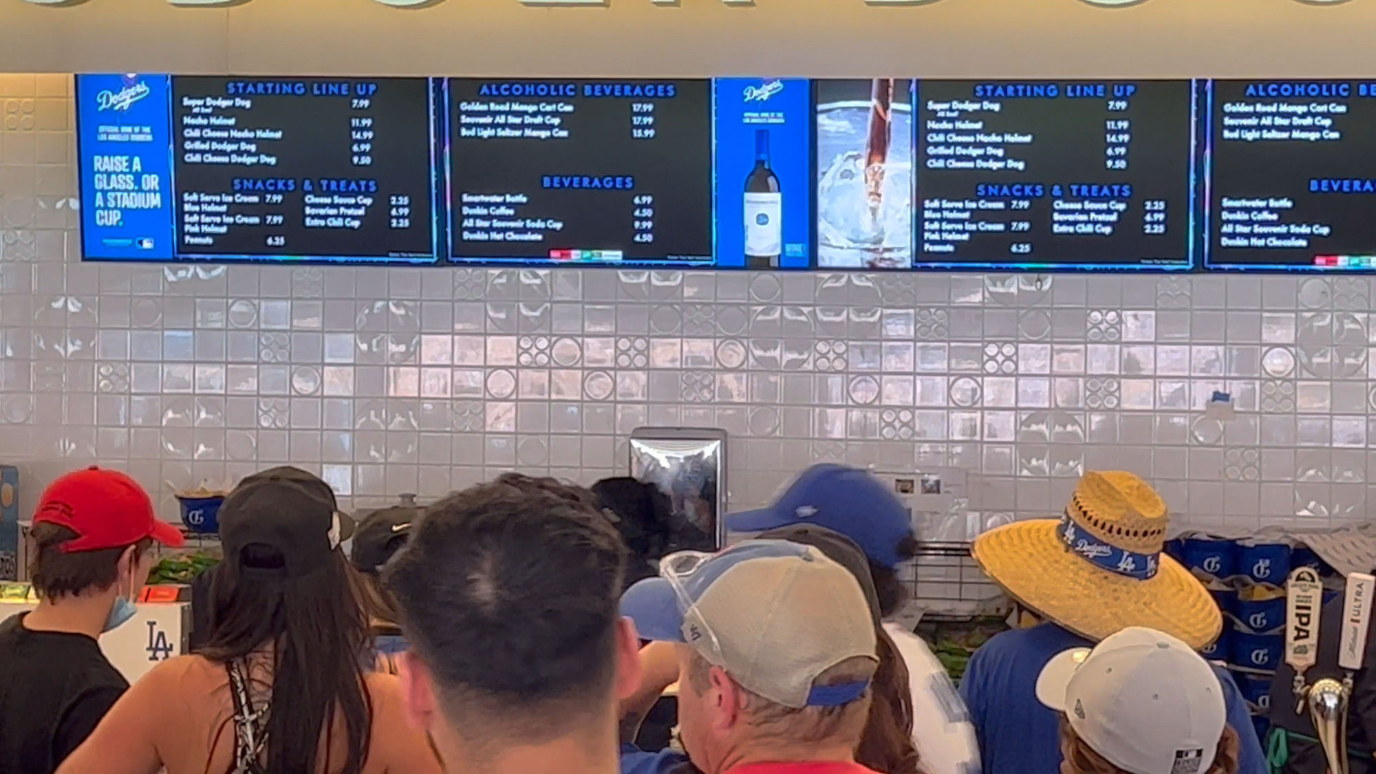
POLYGON ((438 258, 428 79, 80 76, 84 248, 438 258))

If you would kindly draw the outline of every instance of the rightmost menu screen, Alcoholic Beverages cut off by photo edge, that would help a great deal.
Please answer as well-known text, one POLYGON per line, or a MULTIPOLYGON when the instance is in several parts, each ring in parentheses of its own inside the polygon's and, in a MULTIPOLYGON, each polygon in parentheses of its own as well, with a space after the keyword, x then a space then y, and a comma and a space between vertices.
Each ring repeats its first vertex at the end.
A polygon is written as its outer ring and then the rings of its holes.
POLYGON ((1210 269, 1376 269, 1376 81, 1215 81, 1210 269))

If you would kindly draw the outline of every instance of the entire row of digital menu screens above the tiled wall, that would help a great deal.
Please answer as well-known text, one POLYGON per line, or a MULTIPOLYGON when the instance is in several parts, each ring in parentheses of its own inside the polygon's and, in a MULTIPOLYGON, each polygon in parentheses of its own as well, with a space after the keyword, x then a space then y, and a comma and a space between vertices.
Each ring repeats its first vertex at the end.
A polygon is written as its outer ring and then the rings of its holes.
POLYGON ((1376 271, 1376 80, 81 74, 92 260, 1376 271))

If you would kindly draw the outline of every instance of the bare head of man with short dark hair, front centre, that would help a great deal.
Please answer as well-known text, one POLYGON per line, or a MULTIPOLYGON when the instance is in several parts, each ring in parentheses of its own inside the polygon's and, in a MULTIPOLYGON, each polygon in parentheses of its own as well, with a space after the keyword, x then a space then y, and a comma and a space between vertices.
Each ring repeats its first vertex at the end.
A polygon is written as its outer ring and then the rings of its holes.
POLYGON ((411 645, 407 709, 446 760, 614 745, 616 701, 640 682, 618 613, 625 572, 626 547, 581 488, 502 477, 425 510, 383 578, 411 645))

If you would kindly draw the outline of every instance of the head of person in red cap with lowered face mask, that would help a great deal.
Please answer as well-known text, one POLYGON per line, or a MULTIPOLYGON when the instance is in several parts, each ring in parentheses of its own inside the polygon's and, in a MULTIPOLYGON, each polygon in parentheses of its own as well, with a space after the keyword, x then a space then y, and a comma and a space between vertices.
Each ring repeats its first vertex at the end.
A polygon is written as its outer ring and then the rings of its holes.
POLYGON ((153 541, 183 544, 182 533, 153 512, 153 501, 136 481, 100 468, 54 481, 39 499, 29 534, 29 576, 39 598, 52 605, 99 598, 98 607, 109 599, 107 624, 113 625, 128 618, 149 580, 153 541))

